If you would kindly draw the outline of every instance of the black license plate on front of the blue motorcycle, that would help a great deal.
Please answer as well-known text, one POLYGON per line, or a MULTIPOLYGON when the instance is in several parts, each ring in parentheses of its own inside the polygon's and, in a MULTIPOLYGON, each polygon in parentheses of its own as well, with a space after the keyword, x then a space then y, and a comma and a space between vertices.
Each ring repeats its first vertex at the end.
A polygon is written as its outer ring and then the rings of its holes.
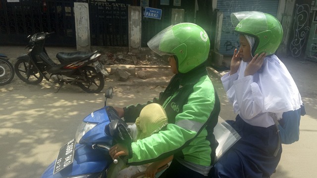
POLYGON ((62 146, 58 152, 55 161, 53 174, 58 173, 60 170, 66 168, 74 162, 75 139, 68 141, 62 146))

